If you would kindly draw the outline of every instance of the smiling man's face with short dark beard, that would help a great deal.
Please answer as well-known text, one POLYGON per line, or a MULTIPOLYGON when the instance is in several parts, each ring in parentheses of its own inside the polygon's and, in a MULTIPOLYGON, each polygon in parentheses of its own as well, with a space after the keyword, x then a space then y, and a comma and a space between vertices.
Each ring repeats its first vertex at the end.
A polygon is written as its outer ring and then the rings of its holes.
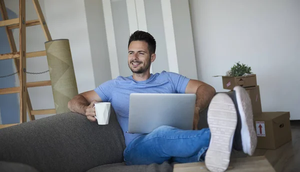
MULTIPOLYGON (((154 54, 152 54, 154 55, 154 54)), ((128 47, 128 66, 133 73, 144 73, 151 64, 148 43, 132 41, 128 47)))

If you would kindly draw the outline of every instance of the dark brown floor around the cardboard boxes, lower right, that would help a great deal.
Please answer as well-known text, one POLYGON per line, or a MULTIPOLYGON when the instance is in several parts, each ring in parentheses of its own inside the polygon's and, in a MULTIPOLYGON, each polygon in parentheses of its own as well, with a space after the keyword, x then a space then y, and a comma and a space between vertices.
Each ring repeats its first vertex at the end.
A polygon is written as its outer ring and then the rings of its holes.
MULTIPOLYGON (((256 149, 253 156, 265 156, 276 172, 300 172, 300 121, 291 121, 292 141, 276 150, 256 149)), ((233 152, 232 158, 246 157, 233 152)))

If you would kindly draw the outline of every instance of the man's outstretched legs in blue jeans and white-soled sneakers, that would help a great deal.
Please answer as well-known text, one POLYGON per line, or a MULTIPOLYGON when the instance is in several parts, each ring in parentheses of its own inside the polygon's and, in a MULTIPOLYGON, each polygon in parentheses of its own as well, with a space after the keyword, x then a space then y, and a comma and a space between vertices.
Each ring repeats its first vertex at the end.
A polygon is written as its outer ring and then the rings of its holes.
POLYGON ((209 171, 224 172, 232 148, 253 154, 257 140, 251 101, 242 87, 235 87, 231 98, 216 94, 208 106, 207 122, 209 128, 201 130, 158 127, 134 139, 124 150, 124 161, 126 165, 205 161, 209 171))

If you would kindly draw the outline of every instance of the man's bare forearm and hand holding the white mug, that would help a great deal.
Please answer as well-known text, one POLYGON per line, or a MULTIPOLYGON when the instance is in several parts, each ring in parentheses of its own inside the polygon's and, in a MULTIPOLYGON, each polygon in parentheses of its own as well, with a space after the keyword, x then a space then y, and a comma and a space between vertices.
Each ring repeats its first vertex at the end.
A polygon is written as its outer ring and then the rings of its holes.
POLYGON ((87 116, 87 109, 92 108, 96 102, 101 102, 101 98, 94 91, 87 91, 74 96, 67 104, 71 112, 79 113, 87 116), (91 106, 91 107, 89 107, 91 106))

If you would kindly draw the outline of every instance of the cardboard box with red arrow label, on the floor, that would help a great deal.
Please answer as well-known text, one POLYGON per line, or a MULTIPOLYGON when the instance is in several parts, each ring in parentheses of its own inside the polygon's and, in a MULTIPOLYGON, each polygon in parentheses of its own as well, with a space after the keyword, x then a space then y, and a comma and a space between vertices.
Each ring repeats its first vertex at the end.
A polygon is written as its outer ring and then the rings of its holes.
POLYGON ((262 112, 254 117, 258 149, 277 149, 291 141, 289 112, 262 112))

